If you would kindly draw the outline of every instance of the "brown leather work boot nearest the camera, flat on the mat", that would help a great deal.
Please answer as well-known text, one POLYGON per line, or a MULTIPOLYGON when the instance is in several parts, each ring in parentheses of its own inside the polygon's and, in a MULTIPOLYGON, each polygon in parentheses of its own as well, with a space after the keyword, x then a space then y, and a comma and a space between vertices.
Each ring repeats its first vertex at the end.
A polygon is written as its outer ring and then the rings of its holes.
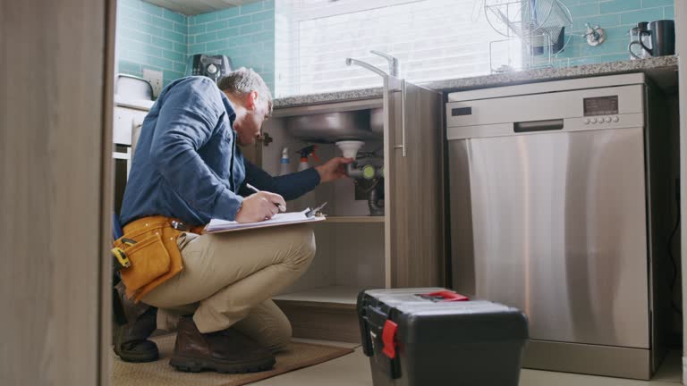
POLYGON ((256 373, 276 363, 267 348, 233 328, 200 333, 191 317, 182 317, 169 364, 183 372, 256 373))

